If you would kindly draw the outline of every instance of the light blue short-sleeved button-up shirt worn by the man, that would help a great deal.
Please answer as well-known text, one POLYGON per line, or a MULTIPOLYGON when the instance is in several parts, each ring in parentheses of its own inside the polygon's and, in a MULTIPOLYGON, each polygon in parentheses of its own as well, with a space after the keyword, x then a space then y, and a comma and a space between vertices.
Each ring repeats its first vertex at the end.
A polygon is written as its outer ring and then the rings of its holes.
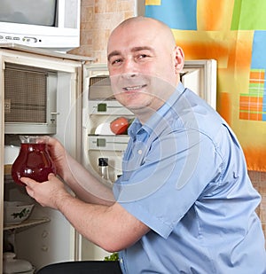
POLYGON ((120 252, 123 273, 266 273, 261 197, 219 114, 179 83, 129 136, 113 193, 151 231, 120 252))

